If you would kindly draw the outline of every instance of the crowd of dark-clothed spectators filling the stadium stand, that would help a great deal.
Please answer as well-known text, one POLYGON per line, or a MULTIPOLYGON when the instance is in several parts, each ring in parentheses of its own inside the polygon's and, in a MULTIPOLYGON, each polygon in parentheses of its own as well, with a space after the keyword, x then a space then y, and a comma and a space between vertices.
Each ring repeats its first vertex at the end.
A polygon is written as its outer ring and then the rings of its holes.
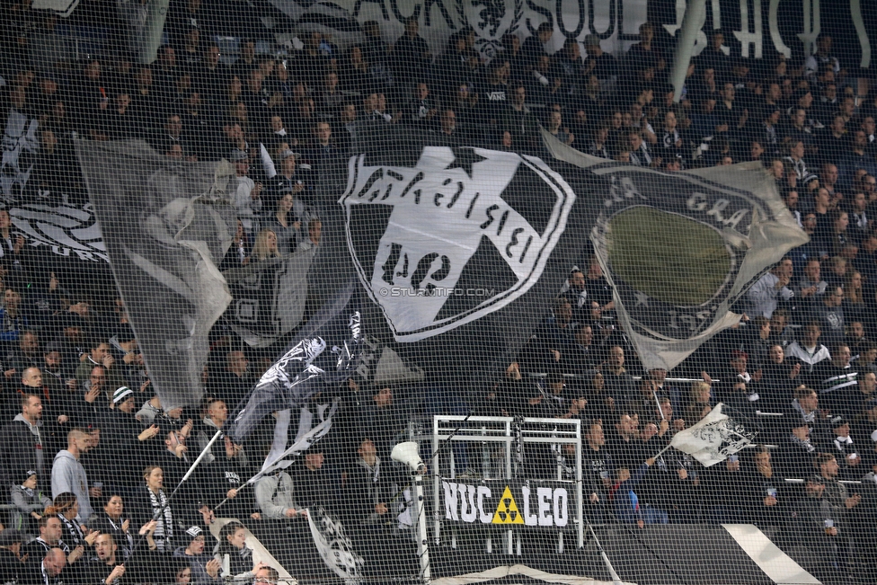
MULTIPOLYGON (((828 36, 809 58, 754 61, 727 56, 713 31, 674 102, 663 81, 671 56, 648 23, 618 57, 596 35, 548 54, 547 25, 523 41, 507 36, 490 62, 474 50, 473 31, 433 55, 412 19, 392 43, 366 22, 357 44, 340 49, 314 31, 282 58, 242 39, 227 66, 190 0, 172 3, 168 42, 155 63, 138 66, 120 48, 64 61, 55 17, 28 4, 3 13, 10 50, 0 57, 0 93, 10 120, 22 122, 7 134, 17 128, 33 141, 31 178, 8 202, 84 199, 75 137, 145 137, 170 157, 225 157, 238 175, 239 224, 223 270, 319 244, 314 191, 370 124, 523 152, 539 152, 541 124, 582 152, 669 173, 760 161, 811 242, 749 290, 739 326, 672 373, 694 382, 640 371, 590 259, 496 386, 462 397, 462 412, 583 421, 594 521, 752 522, 829 580, 874 563, 877 92, 855 94, 851 64, 828 36), (654 457, 718 402, 760 431, 757 448, 711 468, 672 450, 654 457)), ((197 481, 165 506, 270 356, 241 350, 220 326, 204 372, 208 398, 164 409, 112 283, 76 286, 24 245, 6 210, 0 236, 4 582, 277 581, 274 568, 252 561, 244 525, 293 576, 319 575, 321 561, 303 544, 305 510, 317 505, 376 550, 407 542, 396 518, 404 479, 389 453, 426 413, 417 388, 360 388, 343 414, 347 430, 253 487, 244 483, 271 429, 244 446, 223 436, 197 481), (207 538, 217 517, 243 524, 223 527, 217 543, 207 538), (122 567, 141 536, 139 562, 122 567)), ((570 474, 570 456, 536 449, 528 473, 556 477, 559 465, 570 474)))

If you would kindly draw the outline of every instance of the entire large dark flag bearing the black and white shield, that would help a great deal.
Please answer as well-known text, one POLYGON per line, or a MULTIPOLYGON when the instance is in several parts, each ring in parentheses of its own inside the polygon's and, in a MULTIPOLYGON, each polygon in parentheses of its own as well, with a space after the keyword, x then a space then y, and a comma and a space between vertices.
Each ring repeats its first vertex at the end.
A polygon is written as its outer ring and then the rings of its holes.
POLYGON ((369 335, 425 377, 480 384, 514 359, 583 252, 588 177, 411 130, 359 139, 338 222, 372 300, 369 335))

